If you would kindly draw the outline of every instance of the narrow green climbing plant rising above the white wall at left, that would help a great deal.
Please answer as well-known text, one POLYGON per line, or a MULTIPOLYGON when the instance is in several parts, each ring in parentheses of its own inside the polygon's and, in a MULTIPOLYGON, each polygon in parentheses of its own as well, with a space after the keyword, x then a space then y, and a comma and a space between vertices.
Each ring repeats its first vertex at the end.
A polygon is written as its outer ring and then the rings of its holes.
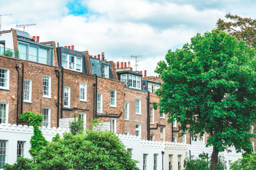
POLYGON ((43 115, 35 114, 33 112, 24 112, 20 115, 20 120, 28 122, 28 125, 34 127, 34 135, 31 137, 31 149, 29 152, 35 156, 40 150, 47 145, 48 141, 44 138, 42 131, 39 129, 42 121, 44 120, 43 115))

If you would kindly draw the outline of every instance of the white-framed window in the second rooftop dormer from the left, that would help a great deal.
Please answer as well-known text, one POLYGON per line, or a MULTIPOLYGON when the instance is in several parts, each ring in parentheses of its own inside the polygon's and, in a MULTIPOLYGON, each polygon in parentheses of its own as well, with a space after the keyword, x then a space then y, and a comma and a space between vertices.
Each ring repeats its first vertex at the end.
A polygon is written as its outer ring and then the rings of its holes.
POLYGON ((62 67, 82 71, 82 58, 62 53, 62 67))

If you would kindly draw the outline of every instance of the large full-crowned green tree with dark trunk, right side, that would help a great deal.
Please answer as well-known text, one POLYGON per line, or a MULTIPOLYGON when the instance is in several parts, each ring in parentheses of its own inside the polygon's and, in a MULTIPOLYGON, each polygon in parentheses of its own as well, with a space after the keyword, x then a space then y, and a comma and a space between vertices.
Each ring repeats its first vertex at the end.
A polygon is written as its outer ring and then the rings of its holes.
POLYGON ((169 50, 165 60, 155 70, 164 81, 156 91, 160 113, 168 115, 168 122, 181 123, 183 134, 210 135, 211 170, 225 146, 250 153, 255 135, 249 131, 256 121, 255 49, 212 30, 192 37, 182 49, 169 50))

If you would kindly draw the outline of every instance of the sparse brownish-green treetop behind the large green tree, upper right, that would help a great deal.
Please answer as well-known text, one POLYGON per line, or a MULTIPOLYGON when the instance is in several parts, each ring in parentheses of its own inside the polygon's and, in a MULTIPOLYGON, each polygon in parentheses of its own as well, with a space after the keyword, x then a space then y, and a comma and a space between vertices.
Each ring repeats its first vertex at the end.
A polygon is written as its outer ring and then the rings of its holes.
POLYGON ((219 19, 216 23, 218 30, 236 36, 238 40, 246 41, 248 47, 256 48, 256 19, 242 18, 238 15, 226 14, 225 22, 219 19))

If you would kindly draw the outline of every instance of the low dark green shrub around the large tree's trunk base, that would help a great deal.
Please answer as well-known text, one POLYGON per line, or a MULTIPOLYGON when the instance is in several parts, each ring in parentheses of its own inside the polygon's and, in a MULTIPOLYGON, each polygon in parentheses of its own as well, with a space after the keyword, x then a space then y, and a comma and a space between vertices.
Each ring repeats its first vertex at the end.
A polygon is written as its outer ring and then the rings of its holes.
MULTIPOLYGON (((189 158, 186 158, 184 160, 184 170, 210 170, 211 162, 207 161, 207 156, 201 155, 200 157, 201 158, 196 158, 194 160, 189 160, 189 158)), ((219 157, 216 170, 227 170, 224 157, 219 157)))

